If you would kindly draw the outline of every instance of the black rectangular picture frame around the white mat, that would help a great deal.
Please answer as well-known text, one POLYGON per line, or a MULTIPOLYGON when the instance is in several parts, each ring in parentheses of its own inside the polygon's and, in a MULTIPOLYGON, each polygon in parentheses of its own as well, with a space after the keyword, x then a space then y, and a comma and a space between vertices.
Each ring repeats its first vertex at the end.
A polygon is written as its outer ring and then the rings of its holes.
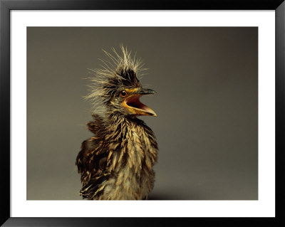
POLYGON ((3 226, 285 226, 284 214, 284 0, 0 0, 1 220, 3 226), (10 12, 11 10, 275 10, 276 15, 276 217, 275 218, 11 218, 10 217, 10 12))

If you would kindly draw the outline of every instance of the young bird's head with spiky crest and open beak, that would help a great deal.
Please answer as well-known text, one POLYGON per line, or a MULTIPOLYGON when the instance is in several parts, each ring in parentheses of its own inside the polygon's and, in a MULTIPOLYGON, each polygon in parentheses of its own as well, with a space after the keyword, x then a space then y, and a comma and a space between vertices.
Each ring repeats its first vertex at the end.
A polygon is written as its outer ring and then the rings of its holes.
POLYGON ((105 105, 108 115, 150 115, 155 112, 140 102, 142 95, 155 94, 154 90, 142 88, 138 73, 142 70, 140 60, 130 57, 130 52, 120 46, 123 55, 115 49, 115 56, 105 52, 110 60, 102 60, 102 68, 93 70, 95 78, 88 98, 95 104, 105 105))

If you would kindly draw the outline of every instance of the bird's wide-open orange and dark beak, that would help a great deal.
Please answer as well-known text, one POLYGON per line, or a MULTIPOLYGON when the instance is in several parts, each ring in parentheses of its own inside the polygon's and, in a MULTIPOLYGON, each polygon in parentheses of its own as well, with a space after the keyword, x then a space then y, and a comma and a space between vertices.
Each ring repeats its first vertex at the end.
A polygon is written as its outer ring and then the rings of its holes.
POLYGON ((142 95, 156 94, 154 90, 136 88, 135 90, 126 89, 126 91, 130 95, 125 98, 123 105, 125 105, 125 107, 127 107, 130 112, 133 112, 135 115, 149 115, 154 117, 157 116, 156 113, 150 109, 150 107, 147 107, 147 105, 144 105, 142 102, 140 102, 140 97, 142 95))

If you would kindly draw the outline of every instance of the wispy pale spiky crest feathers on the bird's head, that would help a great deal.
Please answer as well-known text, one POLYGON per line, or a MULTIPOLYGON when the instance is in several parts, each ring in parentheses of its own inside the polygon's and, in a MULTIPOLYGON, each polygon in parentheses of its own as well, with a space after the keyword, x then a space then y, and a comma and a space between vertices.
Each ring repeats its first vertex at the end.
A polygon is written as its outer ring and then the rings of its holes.
POLYGON ((136 56, 132 57, 127 47, 120 45, 121 55, 115 51, 115 48, 111 48, 111 51, 113 53, 103 50, 108 60, 99 59, 102 62, 100 68, 88 69, 93 77, 90 78, 91 84, 88 85, 90 93, 85 99, 93 103, 96 113, 104 112, 103 103, 120 86, 140 84, 137 76, 142 70, 146 70, 142 68, 142 60, 136 56))

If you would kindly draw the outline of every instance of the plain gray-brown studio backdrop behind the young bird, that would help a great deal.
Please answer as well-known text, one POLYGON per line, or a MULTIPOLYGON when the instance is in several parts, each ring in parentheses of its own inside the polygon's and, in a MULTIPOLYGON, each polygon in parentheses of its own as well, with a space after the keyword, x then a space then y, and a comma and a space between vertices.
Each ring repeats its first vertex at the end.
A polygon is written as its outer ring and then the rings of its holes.
POLYGON ((150 199, 258 199, 257 28, 29 27, 27 199, 81 199, 87 68, 123 43, 142 58, 157 117, 150 199))

